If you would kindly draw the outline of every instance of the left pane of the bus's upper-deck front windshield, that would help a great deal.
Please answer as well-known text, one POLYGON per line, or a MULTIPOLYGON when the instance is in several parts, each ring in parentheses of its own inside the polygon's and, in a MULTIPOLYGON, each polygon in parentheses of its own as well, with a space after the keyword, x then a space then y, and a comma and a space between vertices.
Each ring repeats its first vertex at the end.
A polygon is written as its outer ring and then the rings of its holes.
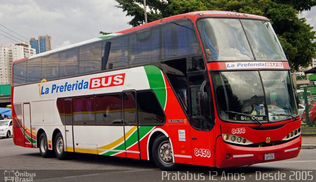
POLYGON ((254 60, 238 19, 205 18, 197 22, 208 61, 254 60))

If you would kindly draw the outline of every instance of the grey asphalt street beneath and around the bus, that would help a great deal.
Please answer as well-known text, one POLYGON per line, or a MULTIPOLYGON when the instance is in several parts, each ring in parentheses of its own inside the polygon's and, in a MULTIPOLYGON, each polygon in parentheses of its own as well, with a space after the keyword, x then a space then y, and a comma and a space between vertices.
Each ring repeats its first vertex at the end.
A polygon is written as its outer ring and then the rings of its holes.
POLYGON ((33 182, 315 181, 316 149, 302 149, 294 159, 248 167, 185 165, 181 171, 165 172, 150 161, 92 154, 77 153, 64 161, 44 159, 38 148, 15 146, 12 138, 0 139, 0 182, 12 175, 15 181, 33 182))

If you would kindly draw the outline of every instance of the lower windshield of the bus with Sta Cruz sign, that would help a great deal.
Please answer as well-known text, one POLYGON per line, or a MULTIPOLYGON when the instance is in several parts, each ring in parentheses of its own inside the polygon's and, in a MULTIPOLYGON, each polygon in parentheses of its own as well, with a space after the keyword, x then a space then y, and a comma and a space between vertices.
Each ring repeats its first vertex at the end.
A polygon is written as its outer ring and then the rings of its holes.
POLYGON ((276 121, 298 114, 288 71, 214 72, 213 80, 223 120, 276 121))

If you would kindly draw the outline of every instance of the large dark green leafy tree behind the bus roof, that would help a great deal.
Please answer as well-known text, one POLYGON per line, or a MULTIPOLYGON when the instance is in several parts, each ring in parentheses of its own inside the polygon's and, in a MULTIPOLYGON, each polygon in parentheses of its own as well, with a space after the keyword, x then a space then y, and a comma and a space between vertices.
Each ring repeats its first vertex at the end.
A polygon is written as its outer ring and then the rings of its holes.
MULTIPOLYGON (((133 27, 144 24, 143 0, 116 0, 117 7, 133 19, 133 27)), ((223 10, 266 16, 270 19, 282 44, 292 71, 307 67, 316 57, 313 27, 298 14, 310 10, 316 0, 146 0, 148 22, 172 15, 201 11, 223 10)))

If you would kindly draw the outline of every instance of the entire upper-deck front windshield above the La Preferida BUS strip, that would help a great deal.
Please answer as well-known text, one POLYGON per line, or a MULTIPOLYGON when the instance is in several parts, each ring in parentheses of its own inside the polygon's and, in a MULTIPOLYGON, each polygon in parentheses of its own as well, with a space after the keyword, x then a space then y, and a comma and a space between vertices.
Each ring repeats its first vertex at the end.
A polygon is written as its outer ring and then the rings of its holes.
POLYGON ((204 18, 197 26, 208 61, 286 60, 268 21, 204 18))

